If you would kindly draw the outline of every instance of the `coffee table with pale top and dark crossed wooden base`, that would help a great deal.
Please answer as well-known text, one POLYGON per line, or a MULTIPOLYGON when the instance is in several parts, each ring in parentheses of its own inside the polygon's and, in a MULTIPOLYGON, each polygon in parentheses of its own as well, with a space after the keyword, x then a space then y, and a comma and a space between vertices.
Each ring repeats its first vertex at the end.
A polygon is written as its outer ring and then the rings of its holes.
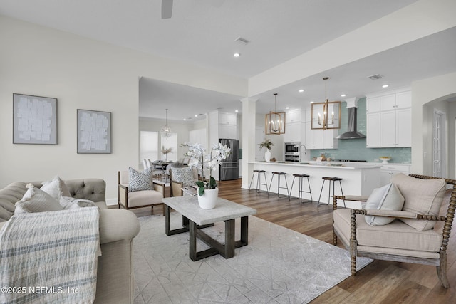
POLYGON ((174 196, 162 199, 165 204, 165 234, 181 234, 190 232, 190 258, 198 261, 202 258, 220 254, 224 258, 232 258, 234 249, 246 246, 249 239, 249 215, 257 214, 257 210, 241 204, 219 198, 214 209, 199 208, 197 196, 174 196), (170 229, 170 209, 182 214, 182 228, 170 229), (241 236, 234 241, 235 219, 241 218, 241 236), (224 221, 225 243, 219 243, 207 235, 203 228, 214 226, 214 223, 224 221), (197 238, 210 248, 197 251, 197 238))

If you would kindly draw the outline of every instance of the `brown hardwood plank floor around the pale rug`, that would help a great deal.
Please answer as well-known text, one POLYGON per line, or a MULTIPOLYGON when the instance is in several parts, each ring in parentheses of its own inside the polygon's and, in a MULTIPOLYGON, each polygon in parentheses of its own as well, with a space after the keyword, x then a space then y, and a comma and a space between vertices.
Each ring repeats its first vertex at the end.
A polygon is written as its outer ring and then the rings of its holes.
MULTIPOLYGON (((299 204, 296 199, 268 198, 266 193, 241 189, 240 179, 219 182, 219 196, 257 209, 256 216, 261 219, 332 244, 332 206, 317 208, 316 202, 299 204)), ((133 212, 137 216, 162 214, 162 207, 133 212)), ((456 228, 452 229, 447 252, 450 288, 440 285, 435 266, 373 261, 311 303, 456 303, 456 228)))

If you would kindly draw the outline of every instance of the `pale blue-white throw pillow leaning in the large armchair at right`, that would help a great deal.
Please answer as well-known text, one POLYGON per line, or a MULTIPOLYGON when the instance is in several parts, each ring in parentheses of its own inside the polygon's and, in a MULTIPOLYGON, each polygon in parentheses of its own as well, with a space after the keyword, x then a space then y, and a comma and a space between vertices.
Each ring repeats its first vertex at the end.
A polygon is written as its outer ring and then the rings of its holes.
MULTIPOLYGON (((400 194, 398 187, 395 184, 387 184, 381 188, 374 189, 368 201, 366 201, 365 209, 375 210, 402 210, 404 205, 404 196, 400 194)), ((364 216, 366 223, 371 226, 380 226, 390 224, 394 221, 393 217, 385 216, 364 216)))

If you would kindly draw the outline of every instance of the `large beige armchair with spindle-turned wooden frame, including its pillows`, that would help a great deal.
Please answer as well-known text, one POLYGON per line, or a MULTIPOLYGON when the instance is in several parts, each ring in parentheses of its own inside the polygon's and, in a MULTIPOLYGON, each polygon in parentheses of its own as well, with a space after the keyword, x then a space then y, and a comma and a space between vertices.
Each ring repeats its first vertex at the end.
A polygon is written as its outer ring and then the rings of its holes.
POLYGON ((395 174, 388 192, 380 193, 382 188, 375 189, 363 209, 337 209, 337 200, 346 196, 334 196, 333 243, 341 241, 350 251, 352 276, 356 257, 364 256, 436 266, 440 283, 449 288, 447 245, 455 215, 456 180, 395 174))

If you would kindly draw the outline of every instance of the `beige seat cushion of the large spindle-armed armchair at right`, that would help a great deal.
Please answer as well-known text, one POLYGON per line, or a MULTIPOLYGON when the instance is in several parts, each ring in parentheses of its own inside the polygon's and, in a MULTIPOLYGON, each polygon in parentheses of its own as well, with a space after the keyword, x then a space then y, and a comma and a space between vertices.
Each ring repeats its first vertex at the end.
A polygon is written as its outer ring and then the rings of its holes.
MULTIPOLYGON (((344 243, 350 243, 350 209, 334 211, 334 229, 344 243)), ((417 221, 417 220, 410 220, 417 221)), ((442 234, 430 229, 418 231, 408 224, 396 219, 388 225, 369 226, 363 216, 356 215, 356 240, 358 250, 370 248, 371 252, 438 258, 442 246, 442 234)))

